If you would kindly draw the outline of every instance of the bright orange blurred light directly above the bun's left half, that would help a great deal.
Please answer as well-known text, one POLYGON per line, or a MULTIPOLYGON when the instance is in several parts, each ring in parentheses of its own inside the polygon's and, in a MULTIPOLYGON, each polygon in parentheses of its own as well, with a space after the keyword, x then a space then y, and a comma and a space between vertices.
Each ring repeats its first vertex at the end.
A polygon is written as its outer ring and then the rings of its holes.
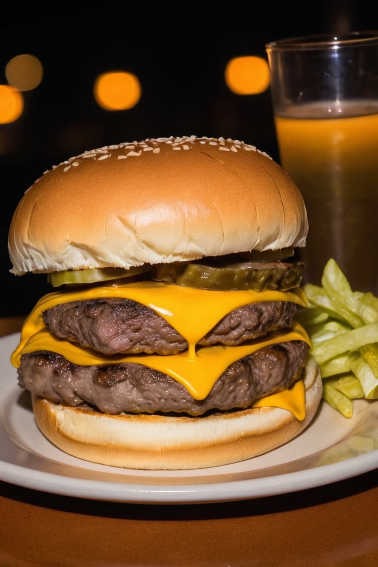
POLYGON ((112 71, 96 78, 94 96, 97 104, 109 111, 133 108, 141 98, 141 84, 133 73, 112 71))

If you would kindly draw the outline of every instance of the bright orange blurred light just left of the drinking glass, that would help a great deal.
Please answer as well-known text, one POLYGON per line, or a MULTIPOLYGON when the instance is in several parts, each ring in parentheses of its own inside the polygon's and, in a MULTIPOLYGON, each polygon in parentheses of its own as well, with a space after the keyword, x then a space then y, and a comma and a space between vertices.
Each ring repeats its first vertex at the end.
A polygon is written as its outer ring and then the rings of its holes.
POLYGON ((269 87, 269 67, 262 57, 235 57, 228 62, 224 78, 236 95, 258 95, 269 87))

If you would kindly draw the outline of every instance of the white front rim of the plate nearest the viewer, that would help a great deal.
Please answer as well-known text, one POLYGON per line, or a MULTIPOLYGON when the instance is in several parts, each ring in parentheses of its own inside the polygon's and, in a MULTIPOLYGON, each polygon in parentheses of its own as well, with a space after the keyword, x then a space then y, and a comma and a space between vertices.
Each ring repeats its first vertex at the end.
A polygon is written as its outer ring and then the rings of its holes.
MULTIPOLYGON (((374 452, 378 455, 378 450, 374 452)), ((373 464, 368 456, 369 454, 357 455, 341 463, 330 463, 317 467, 325 473, 322 476, 316 474, 317 468, 315 467, 306 471, 295 471, 258 479, 192 485, 177 484, 169 488, 163 484, 114 483, 108 480, 79 479, 35 469, 27 469, 29 475, 26 477, 24 467, 6 463, 3 460, 0 460, 0 479, 9 484, 38 492, 87 500, 180 505, 233 502, 300 492, 350 479, 377 468, 377 464, 373 464), (43 487, 41 481, 43 481, 43 487), (261 488, 264 487, 265 490, 262 490, 261 488)))

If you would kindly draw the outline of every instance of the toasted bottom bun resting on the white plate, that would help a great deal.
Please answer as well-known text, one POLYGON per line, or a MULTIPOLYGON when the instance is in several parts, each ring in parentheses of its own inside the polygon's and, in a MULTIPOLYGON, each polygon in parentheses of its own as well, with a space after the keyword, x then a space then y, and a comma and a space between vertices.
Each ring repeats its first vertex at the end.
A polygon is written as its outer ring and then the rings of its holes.
POLYGON ((312 421, 322 395, 320 371, 307 363, 306 417, 253 408, 207 417, 112 416, 32 395, 42 433, 63 451, 94 463, 133 469, 195 469, 236 463, 287 443, 312 421))

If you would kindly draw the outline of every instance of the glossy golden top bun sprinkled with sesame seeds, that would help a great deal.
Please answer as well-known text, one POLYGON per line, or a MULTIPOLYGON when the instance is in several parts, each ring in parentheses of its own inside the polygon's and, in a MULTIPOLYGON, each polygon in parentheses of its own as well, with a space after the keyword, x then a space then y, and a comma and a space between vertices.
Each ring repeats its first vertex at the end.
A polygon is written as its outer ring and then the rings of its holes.
POLYGON ((256 147, 146 139, 87 151, 45 172, 12 218, 11 272, 303 247, 307 230, 294 181, 256 147))

